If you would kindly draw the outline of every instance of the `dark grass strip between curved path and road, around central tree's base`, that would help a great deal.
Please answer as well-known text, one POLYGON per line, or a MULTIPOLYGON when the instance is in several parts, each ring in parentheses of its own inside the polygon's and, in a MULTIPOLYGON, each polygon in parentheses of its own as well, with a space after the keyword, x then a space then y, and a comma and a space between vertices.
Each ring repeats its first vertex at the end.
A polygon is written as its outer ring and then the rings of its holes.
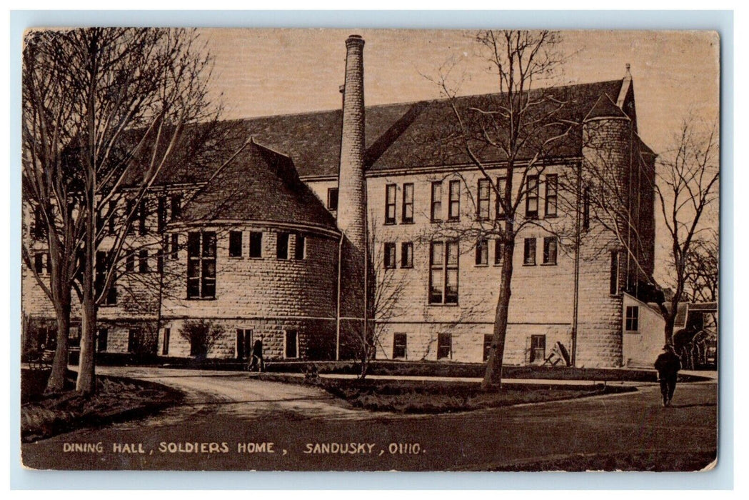
MULTIPOLYGON (((303 379, 273 374, 264 375, 263 378, 279 382, 303 383, 303 379)), ((478 384, 471 382, 413 380, 385 382, 372 379, 361 381, 327 378, 317 379, 315 385, 357 408, 396 413, 466 412, 497 406, 568 400, 635 390, 602 384, 586 386, 505 384, 498 391, 482 392, 478 384)))

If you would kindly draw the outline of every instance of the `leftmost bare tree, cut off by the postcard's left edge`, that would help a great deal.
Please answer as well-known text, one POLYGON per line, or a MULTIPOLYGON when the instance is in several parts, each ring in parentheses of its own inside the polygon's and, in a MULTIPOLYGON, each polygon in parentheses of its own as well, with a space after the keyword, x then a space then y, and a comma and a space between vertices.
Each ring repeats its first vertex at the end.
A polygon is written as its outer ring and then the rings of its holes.
POLYGON ((25 224, 22 259, 52 302, 57 325, 55 358, 47 390, 61 391, 67 371, 68 333, 73 282, 79 271, 82 218, 77 217, 81 186, 66 152, 75 130, 75 99, 67 91, 64 68, 54 64, 52 31, 25 37, 22 80, 22 195, 25 224), (43 252, 35 247, 43 246, 43 252), (40 262, 46 254, 47 262, 40 262), (41 268, 40 268, 41 267, 41 268), (40 271, 49 269, 44 277, 40 271))

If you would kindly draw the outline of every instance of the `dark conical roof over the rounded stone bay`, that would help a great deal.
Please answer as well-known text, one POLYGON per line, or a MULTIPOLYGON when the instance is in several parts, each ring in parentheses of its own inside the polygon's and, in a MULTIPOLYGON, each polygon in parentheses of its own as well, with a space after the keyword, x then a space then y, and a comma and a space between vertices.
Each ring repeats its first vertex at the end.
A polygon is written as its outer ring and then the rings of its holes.
POLYGON ((285 155, 249 141, 187 202, 179 222, 257 220, 319 226, 336 220, 285 155))

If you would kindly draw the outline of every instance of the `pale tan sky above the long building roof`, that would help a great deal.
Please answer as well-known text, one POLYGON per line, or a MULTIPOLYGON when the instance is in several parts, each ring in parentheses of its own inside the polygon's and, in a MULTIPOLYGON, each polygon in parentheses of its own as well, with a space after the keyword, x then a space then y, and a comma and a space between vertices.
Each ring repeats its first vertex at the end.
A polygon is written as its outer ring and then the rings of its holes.
MULTIPOLYGON (((381 29, 203 29, 215 57, 213 97, 225 118, 249 118, 336 109, 345 70, 345 40, 360 34, 364 46, 367 106, 440 97, 433 79, 456 64, 458 94, 497 91, 473 40, 474 31, 381 29), (220 96, 220 97, 219 97, 220 96)), ((557 83, 621 79, 630 64, 640 137, 658 154, 673 148, 688 117, 717 123, 720 109, 720 40, 712 31, 562 31, 566 56, 557 83)), ((703 216, 718 224, 718 205, 703 216)), ((669 242, 656 214, 656 260, 669 242)), ((662 266, 658 268, 664 269, 662 266)), ((657 279, 664 278, 661 272, 657 279)))

